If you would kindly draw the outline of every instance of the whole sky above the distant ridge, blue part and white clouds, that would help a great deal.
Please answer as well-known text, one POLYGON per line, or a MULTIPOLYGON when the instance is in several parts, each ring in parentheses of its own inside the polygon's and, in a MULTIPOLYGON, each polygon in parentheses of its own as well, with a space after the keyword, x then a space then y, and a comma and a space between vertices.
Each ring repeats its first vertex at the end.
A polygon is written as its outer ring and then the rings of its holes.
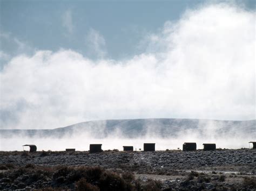
POLYGON ((249 120, 255 1, 0 0, 0 128, 249 120))

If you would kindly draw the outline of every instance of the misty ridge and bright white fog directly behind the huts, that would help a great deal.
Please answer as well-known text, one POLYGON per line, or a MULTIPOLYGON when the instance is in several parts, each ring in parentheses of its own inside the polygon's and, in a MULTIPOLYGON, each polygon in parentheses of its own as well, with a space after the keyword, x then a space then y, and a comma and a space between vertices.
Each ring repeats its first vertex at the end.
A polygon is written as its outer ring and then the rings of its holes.
POLYGON ((35 144, 38 150, 89 150, 90 144, 103 144, 104 150, 124 145, 141 148, 156 143, 156 150, 181 148, 184 142, 215 143, 218 148, 248 147, 254 140, 256 121, 213 121, 204 119, 123 119, 83 122, 52 130, 0 130, 0 150, 22 150, 35 144), (238 141, 239 140, 239 141, 238 141), (64 148, 65 147, 65 148, 64 148))

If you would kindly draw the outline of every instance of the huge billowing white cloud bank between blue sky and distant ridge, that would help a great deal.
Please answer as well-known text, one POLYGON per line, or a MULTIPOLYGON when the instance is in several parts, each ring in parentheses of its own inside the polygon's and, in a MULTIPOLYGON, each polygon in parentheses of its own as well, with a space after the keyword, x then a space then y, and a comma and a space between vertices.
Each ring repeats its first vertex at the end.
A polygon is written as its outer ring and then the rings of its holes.
MULTIPOLYGON (((1 128, 92 119, 255 118, 255 13, 224 4, 187 11, 130 60, 71 51, 13 58, 1 72, 1 128)), ((103 38, 92 32, 97 47, 103 38)), ((100 51, 99 51, 100 52, 100 51)))

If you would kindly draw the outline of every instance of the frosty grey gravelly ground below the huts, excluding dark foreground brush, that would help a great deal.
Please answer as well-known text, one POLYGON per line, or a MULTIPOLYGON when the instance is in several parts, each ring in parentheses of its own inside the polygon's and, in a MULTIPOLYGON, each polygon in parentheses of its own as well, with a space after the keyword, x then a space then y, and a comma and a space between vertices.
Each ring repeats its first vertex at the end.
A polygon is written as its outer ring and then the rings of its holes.
MULTIPOLYGON (((256 150, 246 148, 187 152, 178 150, 105 151, 102 153, 15 151, 0 152, 0 164, 12 164, 18 168, 30 164, 38 167, 100 166, 107 171, 119 174, 132 172, 135 178, 142 182, 151 179, 160 181, 163 190, 256 190, 256 150), (194 171, 196 175, 191 171, 194 171), (225 180, 221 180, 221 176, 225 176, 225 180), (246 178, 249 178, 247 187, 244 181, 246 178)), ((9 171, 2 172, 8 173, 9 171)), ((0 186, 1 181, 5 179, 0 180, 0 186)), ((48 181, 48 185, 51 181, 48 181)), ((35 185, 37 184, 34 183, 35 185)), ((9 188, 12 188, 11 185, 9 188)))

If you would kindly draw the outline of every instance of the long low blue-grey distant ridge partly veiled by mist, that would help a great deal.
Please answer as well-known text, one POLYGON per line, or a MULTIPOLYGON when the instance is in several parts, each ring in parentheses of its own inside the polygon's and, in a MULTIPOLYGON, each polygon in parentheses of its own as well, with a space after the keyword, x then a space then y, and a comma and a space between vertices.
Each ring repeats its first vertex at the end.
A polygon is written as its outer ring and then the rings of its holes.
POLYGON ((15 136, 25 137, 52 137, 77 136, 86 133, 94 138, 105 138, 118 135, 127 138, 140 136, 176 137, 186 133, 207 135, 214 133, 217 136, 251 136, 256 135, 256 120, 249 121, 221 121, 212 119, 110 119, 77 123, 57 129, 33 130, 0 130, 0 138, 15 136))

